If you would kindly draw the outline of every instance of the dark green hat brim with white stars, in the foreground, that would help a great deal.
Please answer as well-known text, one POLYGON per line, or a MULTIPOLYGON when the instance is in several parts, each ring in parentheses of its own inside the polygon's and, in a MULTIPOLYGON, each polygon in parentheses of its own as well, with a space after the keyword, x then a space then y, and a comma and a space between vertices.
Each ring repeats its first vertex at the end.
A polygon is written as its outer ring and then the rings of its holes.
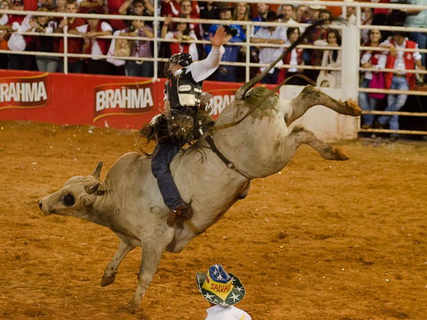
POLYGON ((244 291, 244 287, 242 286, 242 283, 240 282, 238 277, 236 277, 232 273, 229 273, 229 275, 231 276, 231 278, 233 278, 232 280, 233 290, 229 292, 229 295, 227 295, 225 300, 218 297, 218 295, 216 295, 215 293, 209 290, 206 290, 205 288, 202 288, 203 283, 205 282, 205 279, 206 279, 206 275, 207 273, 196 273, 196 282, 197 282, 198 290, 200 291, 202 296, 205 299, 207 299, 207 301, 214 304, 219 304, 220 306, 223 306, 223 307, 228 307, 228 306, 232 306, 235 303, 238 303, 240 300, 243 299, 244 294, 246 293, 244 291))

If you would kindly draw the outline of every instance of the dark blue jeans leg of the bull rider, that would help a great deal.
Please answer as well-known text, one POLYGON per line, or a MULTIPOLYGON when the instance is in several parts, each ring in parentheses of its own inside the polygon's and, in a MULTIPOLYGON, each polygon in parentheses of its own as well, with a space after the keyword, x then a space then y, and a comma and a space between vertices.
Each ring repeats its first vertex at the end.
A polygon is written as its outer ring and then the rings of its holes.
POLYGON ((169 209, 176 209, 184 204, 169 169, 169 164, 179 150, 180 145, 178 143, 158 143, 152 158, 152 173, 157 179, 163 201, 169 209))

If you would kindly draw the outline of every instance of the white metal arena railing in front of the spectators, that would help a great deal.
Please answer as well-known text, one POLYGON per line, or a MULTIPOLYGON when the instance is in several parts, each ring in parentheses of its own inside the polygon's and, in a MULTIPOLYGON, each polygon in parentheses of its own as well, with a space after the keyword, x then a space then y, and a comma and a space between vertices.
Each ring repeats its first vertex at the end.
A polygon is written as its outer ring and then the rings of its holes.
MULTIPOLYGON (((154 0, 154 8, 158 8, 158 2, 160 0, 154 0)), ((217 2, 227 2, 227 3, 233 3, 233 2, 239 2, 236 0, 233 1, 225 1, 225 0, 219 0, 217 2)), ((257 0, 247 0, 245 1, 248 4, 249 3, 258 3, 257 0)), ((290 4, 294 5, 295 1, 288 1, 288 0, 272 0, 269 1, 271 4, 290 4)), ((395 3, 366 3, 366 2, 348 2, 348 1, 298 1, 298 5, 306 5, 306 6, 313 6, 313 5, 320 5, 320 6, 337 6, 342 8, 342 17, 346 17, 346 8, 347 7, 353 7, 356 8, 356 18, 357 23, 356 25, 331 25, 331 27, 341 30, 342 32, 342 46, 341 47, 330 47, 330 46, 319 46, 319 45, 299 45, 299 47, 302 47, 304 49, 311 49, 311 50, 342 50, 342 65, 345 65, 345 67, 321 67, 321 66, 312 66, 312 65, 304 65, 299 66, 298 68, 303 70, 335 70, 335 71, 341 71, 342 72, 342 79, 345 78, 345 81, 342 81, 342 86, 340 89, 341 96, 346 96, 349 98, 353 98, 357 100, 357 95, 359 92, 383 92, 386 94, 408 94, 408 95, 416 95, 416 96, 426 96, 427 92, 425 91, 419 91, 419 90, 413 90, 408 92, 402 92, 399 90, 390 90, 390 89, 370 89, 370 88, 360 88, 359 87, 359 76, 360 72, 364 72, 367 70, 373 71, 372 68, 362 68, 360 67, 360 52, 362 50, 372 50, 372 47, 363 47, 360 45, 360 41, 355 41, 355 39, 360 39, 360 31, 364 29, 379 29, 379 30, 403 30, 405 32, 426 32, 427 30, 425 28, 408 28, 408 27, 390 27, 390 26, 384 26, 384 25, 362 25, 361 17, 362 17, 362 8, 387 8, 387 9, 395 9, 395 10, 402 10, 402 6, 406 9, 416 9, 416 10, 427 10, 427 6, 419 6, 419 5, 402 5, 402 4, 395 4, 395 3)), ((64 41, 65 44, 65 53, 50 53, 50 52, 30 52, 30 51, 12 51, 12 50, 0 50, 0 53, 6 53, 6 54, 30 54, 30 55, 43 55, 43 56, 58 56, 60 58, 63 58, 64 60, 64 72, 67 73, 67 59, 68 58, 91 58, 91 57, 98 57, 98 58, 117 58, 117 59, 123 59, 123 60, 134 60, 134 61, 153 61, 154 62, 154 81, 156 78, 158 78, 158 67, 159 63, 163 63, 167 61, 167 58, 159 57, 158 56, 158 49, 160 43, 168 43, 168 42, 174 42, 173 40, 168 39, 162 39, 159 35, 160 28, 159 24, 163 23, 165 21, 165 17, 159 17, 158 16, 158 10, 155 10, 154 17, 138 17, 138 16, 127 16, 127 15, 120 15, 120 14, 69 14, 64 12, 29 12, 29 11, 16 11, 16 10, 0 10, 0 13, 6 13, 6 14, 31 14, 32 16, 48 16, 48 17, 81 17, 83 19, 87 19, 89 17, 97 17, 99 19, 105 19, 105 20, 112 20, 112 19, 120 19, 120 20, 142 20, 142 21, 150 21, 153 23, 153 32, 154 32, 154 38, 146 38, 146 37, 138 37, 138 36, 102 36, 101 38, 105 39, 127 39, 127 40, 143 40, 143 41, 152 41, 154 43, 153 45, 153 57, 147 57, 147 58, 139 58, 139 57, 123 57, 123 56, 92 56, 90 54, 71 54, 67 52, 66 43, 67 41, 64 41)), ((267 64, 260 64, 260 63, 251 63, 250 61, 250 48, 251 47, 287 47, 287 45, 273 45, 273 44, 262 44, 262 43, 251 43, 251 28, 254 25, 257 26, 268 26, 268 25, 276 25, 276 26, 297 26, 305 28, 307 26, 306 23, 267 23, 267 22, 256 22, 256 21, 221 21, 221 20, 207 20, 207 19, 178 19, 174 18, 172 21, 189 21, 191 23, 206 23, 206 24, 222 24, 222 25, 230 25, 230 24, 236 24, 236 25, 245 25, 247 26, 246 30, 246 37, 247 41, 242 43, 229 43, 228 45, 237 45, 237 46, 244 46, 246 47, 246 61, 244 62, 236 62, 236 63, 227 63, 222 62, 221 65, 234 65, 234 66, 240 66, 245 68, 245 79, 246 81, 249 80, 250 76, 250 70, 252 67, 264 67, 267 66, 267 64)), ((23 32, 23 35, 28 36, 55 36, 55 37, 62 37, 64 40, 71 37, 81 37, 79 35, 74 34, 68 34, 67 32, 64 33, 52 33, 52 34, 41 34, 39 32, 23 32)), ((197 40, 192 41, 194 43, 206 45, 209 44, 209 41, 205 40, 197 40)), ((387 48, 384 48, 384 51, 388 50, 387 48)), ((413 50, 404 50, 411 52, 413 50)), ((418 50, 419 52, 427 52, 427 50, 418 50)), ((288 68, 291 67, 291 65, 282 65, 282 68, 288 68)), ((392 69, 382 69, 375 71, 382 71, 382 72, 394 72, 395 70, 392 69)), ((415 72, 411 70, 406 70, 406 72, 415 72)), ((419 74, 426 74, 427 72, 424 70, 417 71, 419 74)), ((364 111, 366 114, 397 114, 399 116, 419 116, 427 118, 426 112, 402 112, 402 111, 396 111, 396 112, 385 112, 385 111, 364 111)), ((399 130, 399 131, 392 131, 387 129, 359 129, 360 131, 370 131, 370 132, 380 132, 380 133, 398 133, 398 134, 421 134, 426 135, 427 131, 415 131, 415 130, 399 130)))

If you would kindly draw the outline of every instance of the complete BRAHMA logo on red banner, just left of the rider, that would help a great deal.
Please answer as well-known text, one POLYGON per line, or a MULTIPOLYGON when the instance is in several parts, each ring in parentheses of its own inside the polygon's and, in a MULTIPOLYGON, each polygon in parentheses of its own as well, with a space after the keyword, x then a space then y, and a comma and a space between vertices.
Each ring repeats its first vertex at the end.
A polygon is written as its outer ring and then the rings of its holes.
POLYGON ((143 83, 114 83, 95 88, 94 122, 105 116, 144 114, 154 107, 154 85, 143 83))

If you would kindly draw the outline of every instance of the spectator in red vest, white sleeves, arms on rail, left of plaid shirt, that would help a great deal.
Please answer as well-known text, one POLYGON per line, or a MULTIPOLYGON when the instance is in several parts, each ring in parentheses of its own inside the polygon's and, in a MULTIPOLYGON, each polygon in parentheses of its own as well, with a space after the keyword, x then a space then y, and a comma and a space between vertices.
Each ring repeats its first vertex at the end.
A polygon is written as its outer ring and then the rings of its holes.
MULTIPOLYGON (((90 10, 89 14, 97 14, 96 10, 90 10)), ((87 19, 87 24, 80 25, 76 28, 77 32, 83 36, 83 53, 91 54, 92 57, 87 59, 87 73, 89 74, 111 74, 110 64, 105 58, 96 56, 106 55, 110 47, 110 39, 102 39, 100 36, 111 36, 113 28, 105 21, 96 17, 87 19)), ((71 30, 70 33, 74 33, 71 30)))

